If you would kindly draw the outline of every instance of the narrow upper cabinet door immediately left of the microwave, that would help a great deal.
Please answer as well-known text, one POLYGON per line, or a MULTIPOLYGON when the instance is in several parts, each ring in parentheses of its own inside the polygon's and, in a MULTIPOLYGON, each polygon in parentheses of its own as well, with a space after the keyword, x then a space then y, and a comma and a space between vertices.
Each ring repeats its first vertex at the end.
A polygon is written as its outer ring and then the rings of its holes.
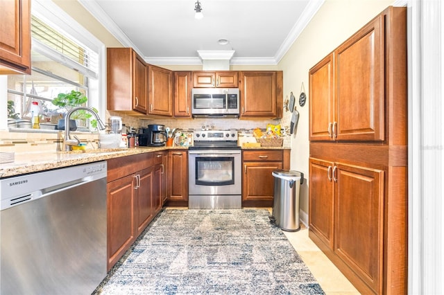
POLYGON ((174 116, 191 118, 191 72, 174 72, 174 116))

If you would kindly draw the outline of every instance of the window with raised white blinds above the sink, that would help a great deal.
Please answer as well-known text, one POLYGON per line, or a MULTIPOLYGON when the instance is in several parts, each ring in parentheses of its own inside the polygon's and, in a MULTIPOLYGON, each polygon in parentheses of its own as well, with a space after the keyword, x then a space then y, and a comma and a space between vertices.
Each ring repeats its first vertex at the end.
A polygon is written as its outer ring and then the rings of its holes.
MULTIPOLYGON (((89 98, 89 84, 98 77, 98 53, 65 33, 31 18, 31 75, 8 75, 9 116, 31 119, 31 105, 39 102, 40 122, 57 124, 64 109, 51 100, 59 93, 80 91, 89 98)), ((87 122, 80 122, 86 125, 87 122)))

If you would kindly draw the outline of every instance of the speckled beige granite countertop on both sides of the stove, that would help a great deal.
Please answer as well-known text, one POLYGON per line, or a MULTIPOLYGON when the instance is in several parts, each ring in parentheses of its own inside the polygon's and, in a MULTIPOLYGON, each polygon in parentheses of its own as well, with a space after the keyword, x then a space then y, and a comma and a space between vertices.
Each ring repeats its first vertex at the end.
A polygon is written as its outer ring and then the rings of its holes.
MULTIPOLYGON (((241 147, 242 150, 283 150, 290 147, 241 147)), ((0 164, 0 178, 27 173, 104 161, 117 157, 157 152, 160 150, 187 150, 188 147, 134 147, 123 149, 86 150, 73 152, 15 152, 15 161, 0 164)))

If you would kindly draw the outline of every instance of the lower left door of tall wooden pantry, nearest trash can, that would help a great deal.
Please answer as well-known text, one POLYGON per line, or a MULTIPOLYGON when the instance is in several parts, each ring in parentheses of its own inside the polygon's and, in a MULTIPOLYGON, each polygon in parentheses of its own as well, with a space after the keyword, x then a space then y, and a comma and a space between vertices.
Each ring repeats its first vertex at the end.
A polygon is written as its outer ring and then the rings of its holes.
POLYGON ((309 160, 309 229, 333 250, 334 163, 309 160))

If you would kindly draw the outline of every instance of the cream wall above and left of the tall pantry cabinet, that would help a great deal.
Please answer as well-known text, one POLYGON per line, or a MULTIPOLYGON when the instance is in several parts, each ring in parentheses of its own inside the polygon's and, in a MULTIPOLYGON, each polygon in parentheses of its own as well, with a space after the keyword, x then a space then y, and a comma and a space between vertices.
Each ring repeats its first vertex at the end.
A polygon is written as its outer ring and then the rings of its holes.
MULTIPOLYGON (((284 71, 284 100, 291 91, 298 101, 301 85, 304 84, 307 102, 304 107, 296 106, 300 113, 298 129, 291 138, 291 169, 308 175, 309 159, 309 69, 319 62, 334 48, 339 46, 359 28, 388 6, 391 0, 326 0, 308 26, 299 35, 289 51, 284 55, 278 69, 284 71)), ((289 122, 290 112, 284 112, 283 122, 289 122)), ((301 219, 308 222, 308 186, 307 181, 300 191, 301 219)))

